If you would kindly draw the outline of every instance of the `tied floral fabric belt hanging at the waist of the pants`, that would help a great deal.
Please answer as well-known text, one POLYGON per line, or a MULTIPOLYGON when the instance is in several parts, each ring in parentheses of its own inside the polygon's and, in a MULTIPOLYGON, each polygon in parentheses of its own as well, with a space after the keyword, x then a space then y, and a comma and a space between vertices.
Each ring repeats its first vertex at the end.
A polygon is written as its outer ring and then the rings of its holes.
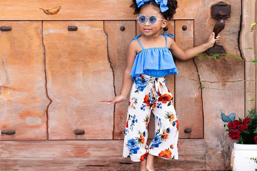
POLYGON ((153 109, 154 107, 157 106, 159 97, 166 92, 166 89, 167 89, 165 86, 166 76, 162 78, 152 77, 146 74, 141 74, 141 76, 143 76, 144 79, 149 84, 149 100, 150 100, 150 103, 155 103, 155 105, 152 104, 150 109, 153 109))

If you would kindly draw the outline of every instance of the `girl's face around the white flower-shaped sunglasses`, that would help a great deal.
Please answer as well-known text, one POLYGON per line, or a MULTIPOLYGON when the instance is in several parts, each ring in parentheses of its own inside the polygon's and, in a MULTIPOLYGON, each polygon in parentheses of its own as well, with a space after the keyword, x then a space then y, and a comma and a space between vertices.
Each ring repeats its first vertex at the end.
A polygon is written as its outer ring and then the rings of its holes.
MULTIPOLYGON (((144 13, 144 15, 146 17, 150 17, 153 14, 153 15, 157 16, 158 19, 164 19, 162 17, 162 15, 160 14, 160 12, 156 11, 156 9, 154 9, 151 5, 148 5, 144 8, 142 8, 140 10, 140 14, 142 14, 142 13, 144 13)), ((137 22, 137 24, 138 24, 140 31, 144 35, 150 36, 150 35, 159 33, 161 28, 166 27, 167 22, 168 22, 167 20, 158 20, 157 24, 151 25, 151 24, 149 24, 148 19, 147 19, 144 24, 139 24, 138 22, 137 22), (145 30, 145 28, 148 28, 150 30, 145 30)))

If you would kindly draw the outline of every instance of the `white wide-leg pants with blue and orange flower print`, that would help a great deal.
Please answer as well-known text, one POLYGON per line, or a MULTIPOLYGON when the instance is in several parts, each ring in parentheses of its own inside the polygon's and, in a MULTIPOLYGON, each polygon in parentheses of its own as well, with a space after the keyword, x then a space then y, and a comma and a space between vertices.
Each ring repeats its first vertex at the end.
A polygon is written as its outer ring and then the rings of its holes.
POLYGON ((163 78, 141 74, 136 77, 128 101, 123 157, 145 160, 148 154, 163 159, 178 159, 178 119, 173 95, 163 78), (150 112, 155 121, 155 137, 147 144, 150 112))

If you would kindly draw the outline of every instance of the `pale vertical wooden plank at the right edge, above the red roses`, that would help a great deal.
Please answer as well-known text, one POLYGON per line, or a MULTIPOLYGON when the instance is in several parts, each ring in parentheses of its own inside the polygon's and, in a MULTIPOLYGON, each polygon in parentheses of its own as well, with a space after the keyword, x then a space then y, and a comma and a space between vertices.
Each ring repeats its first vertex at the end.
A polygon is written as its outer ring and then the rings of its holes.
MULTIPOLYGON (((257 29, 256 25, 254 30, 250 31, 250 25, 256 21, 257 9, 253 8, 256 6, 257 1, 242 1, 242 28, 239 36, 239 47, 242 52, 242 58, 246 61, 257 60, 257 29), (255 15, 254 15, 255 14, 255 15), (247 49, 253 48, 253 49, 247 49)), ((245 62, 245 80, 256 80, 256 64, 252 62, 245 62)), ((250 99, 256 99, 256 94, 249 92, 257 92, 256 82, 246 81, 245 89, 245 117, 249 114, 248 110, 256 108, 257 101, 249 101, 250 99)))

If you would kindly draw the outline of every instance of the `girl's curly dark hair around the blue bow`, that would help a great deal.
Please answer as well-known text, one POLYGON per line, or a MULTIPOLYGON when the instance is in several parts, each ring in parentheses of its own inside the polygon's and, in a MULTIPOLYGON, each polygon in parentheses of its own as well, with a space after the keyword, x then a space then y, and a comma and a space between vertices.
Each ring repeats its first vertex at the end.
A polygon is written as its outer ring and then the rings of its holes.
MULTIPOLYGON (((147 1, 138 8, 136 0, 132 0, 132 4, 129 7, 134 9, 133 14, 139 14, 140 9, 142 9, 148 5, 152 5, 154 7, 154 9, 160 11, 160 4, 157 4, 155 1, 147 1)), ((176 13, 176 8, 178 7, 178 2, 176 0, 168 0, 167 7, 169 9, 164 11, 163 13, 160 11, 160 14, 163 16, 163 18, 165 20, 173 18, 173 15, 176 13)))

